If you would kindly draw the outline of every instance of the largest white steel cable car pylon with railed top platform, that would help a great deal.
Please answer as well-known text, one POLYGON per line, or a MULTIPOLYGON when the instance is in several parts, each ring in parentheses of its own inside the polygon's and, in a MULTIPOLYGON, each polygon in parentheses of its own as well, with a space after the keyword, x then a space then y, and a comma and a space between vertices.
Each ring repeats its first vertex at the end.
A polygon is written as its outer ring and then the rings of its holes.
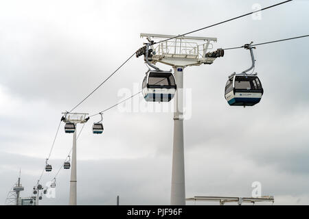
MULTIPOLYGON (((217 38, 195 36, 172 36, 161 34, 140 34, 149 42, 159 38, 161 42, 150 45, 151 64, 161 62, 174 68, 177 91, 174 96, 174 139, 172 157, 171 205, 185 205, 185 159, 183 143, 183 68, 212 64, 216 57, 207 55, 211 42, 217 38), (172 38, 172 39, 170 39, 172 38), (170 40, 169 40, 170 39, 170 40), (203 43, 201 43, 201 41, 203 43)), ((212 48, 211 48, 212 49, 212 48)), ((148 55, 148 54, 147 54, 148 55)))

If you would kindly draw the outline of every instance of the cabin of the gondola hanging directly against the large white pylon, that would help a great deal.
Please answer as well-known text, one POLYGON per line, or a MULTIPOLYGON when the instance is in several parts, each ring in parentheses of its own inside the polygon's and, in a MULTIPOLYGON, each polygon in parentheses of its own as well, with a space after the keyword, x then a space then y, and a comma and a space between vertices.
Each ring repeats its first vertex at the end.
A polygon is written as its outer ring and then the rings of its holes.
POLYGON ((144 99, 152 102, 169 102, 176 92, 174 75, 165 71, 150 70, 142 87, 144 99))

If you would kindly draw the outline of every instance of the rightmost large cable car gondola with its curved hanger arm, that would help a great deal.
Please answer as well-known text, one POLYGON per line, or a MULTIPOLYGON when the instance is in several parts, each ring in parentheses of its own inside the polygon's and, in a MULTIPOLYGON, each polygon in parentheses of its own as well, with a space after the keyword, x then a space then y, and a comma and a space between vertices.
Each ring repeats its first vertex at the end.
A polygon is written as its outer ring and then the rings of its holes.
MULTIPOLYGON (((252 44, 252 42, 251 42, 252 44)), ((240 74, 233 73, 229 76, 225 85, 225 99, 229 105, 236 106, 253 106, 260 103, 264 90, 262 83, 257 74, 247 74, 247 72, 254 68, 255 60, 253 56, 251 44, 245 44, 244 48, 249 49, 251 53, 252 66, 244 70, 240 74)))

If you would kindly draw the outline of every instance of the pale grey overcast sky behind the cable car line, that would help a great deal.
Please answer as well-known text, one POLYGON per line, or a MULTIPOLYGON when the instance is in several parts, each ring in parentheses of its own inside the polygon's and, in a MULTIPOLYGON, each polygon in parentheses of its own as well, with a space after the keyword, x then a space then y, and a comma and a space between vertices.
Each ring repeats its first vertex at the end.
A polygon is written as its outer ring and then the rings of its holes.
MULTIPOLYGON (((251 12, 255 3, 279 2, 1 1, 0 201, 19 168, 21 196, 30 196, 61 112, 142 47, 140 33, 183 34, 251 12)), ((309 1, 292 1, 263 11, 260 20, 247 16, 192 36, 218 38, 217 49, 307 35, 308 10, 309 1)), ((249 51, 226 51, 214 64, 185 68, 184 87, 192 91, 192 116, 184 122, 187 198, 251 196, 251 183, 260 181, 262 195, 275 196, 275 205, 309 204, 308 45, 309 38, 301 38, 255 49, 264 95, 253 107, 230 107, 224 98, 227 76, 251 65, 249 51)), ((94 114, 121 101, 119 90, 139 90, 146 70, 143 58, 133 57, 76 112, 94 114)), ((120 111, 104 114, 101 136, 91 133, 96 116, 78 139, 78 204, 114 205, 119 195, 123 205, 168 205, 172 113, 120 111)), ((43 185, 71 149, 72 135, 63 126, 43 185)), ((56 198, 43 197, 41 204, 68 204, 69 172, 60 171, 56 198)))

